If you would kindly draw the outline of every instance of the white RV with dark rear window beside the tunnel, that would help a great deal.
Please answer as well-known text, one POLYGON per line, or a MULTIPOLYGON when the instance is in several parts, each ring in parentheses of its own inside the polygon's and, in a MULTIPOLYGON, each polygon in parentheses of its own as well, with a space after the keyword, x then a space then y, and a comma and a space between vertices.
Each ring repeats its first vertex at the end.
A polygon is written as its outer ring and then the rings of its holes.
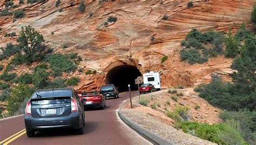
POLYGON ((154 71, 150 71, 150 73, 143 74, 143 83, 152 84, 154 85, 154 88, 160 90, 160 74, 154 71))

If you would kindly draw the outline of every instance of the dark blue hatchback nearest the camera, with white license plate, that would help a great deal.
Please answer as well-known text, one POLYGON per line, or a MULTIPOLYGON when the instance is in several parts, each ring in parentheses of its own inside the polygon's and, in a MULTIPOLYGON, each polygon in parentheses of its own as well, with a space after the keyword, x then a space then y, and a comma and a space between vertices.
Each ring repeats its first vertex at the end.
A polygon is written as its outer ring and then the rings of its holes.
POLYGON ((26 104, 25 126, 28 137, 47 128, 76 128, 83 134, 84 106, 72 88, 37 90, 26 104))

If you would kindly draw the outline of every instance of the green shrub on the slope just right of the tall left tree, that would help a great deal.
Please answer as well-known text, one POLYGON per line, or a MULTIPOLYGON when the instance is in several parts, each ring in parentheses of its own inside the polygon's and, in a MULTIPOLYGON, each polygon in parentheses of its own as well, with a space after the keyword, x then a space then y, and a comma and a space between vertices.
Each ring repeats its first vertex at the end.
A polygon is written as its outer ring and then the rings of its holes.
POLYGON ((70 73, 75 71, 77 65, 69 59, 67 54, 49 54, 46 56, 46 61, 50 63, 50 68, 53 70, 53 76, 62 76, 62 72, 70 73))

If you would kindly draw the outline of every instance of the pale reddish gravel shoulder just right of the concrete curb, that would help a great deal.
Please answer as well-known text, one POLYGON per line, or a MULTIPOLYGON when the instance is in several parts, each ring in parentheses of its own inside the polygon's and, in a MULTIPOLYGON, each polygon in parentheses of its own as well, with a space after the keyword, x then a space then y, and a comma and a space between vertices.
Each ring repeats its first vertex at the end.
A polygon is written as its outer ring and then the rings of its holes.
MULTIPOLYGON (((157 93, 157 92, 156 92, 157 93)), ((153 110, 150 107, 142 106, 137 103, 138 97, 133 98, 133 109, 129 108, 130 103, 127 103, 122 108, 122 113, 134 121, 139 126, 155 133, 174 144, 216 144, 199 137, 186 134, 181 130, 172 127, 172 119, 166 119, 166 116, 159 117, 160 112, 153 110), (167 123, 170 122, 170 123, 167 123)))

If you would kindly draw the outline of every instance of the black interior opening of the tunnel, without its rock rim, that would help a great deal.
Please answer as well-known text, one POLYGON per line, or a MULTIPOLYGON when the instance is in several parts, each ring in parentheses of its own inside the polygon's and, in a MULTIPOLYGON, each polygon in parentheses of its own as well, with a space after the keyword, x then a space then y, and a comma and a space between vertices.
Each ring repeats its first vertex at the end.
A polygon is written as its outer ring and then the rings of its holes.
POLYGON ((119 92, 128 90, 128 84, 131 90, 137 90, 138 86, 134 83, 134 79, 142 76, 138 68, 131 65, 123 65, 112 68, 106 76, 106 84, 114 84, 118 87, 119 92))

